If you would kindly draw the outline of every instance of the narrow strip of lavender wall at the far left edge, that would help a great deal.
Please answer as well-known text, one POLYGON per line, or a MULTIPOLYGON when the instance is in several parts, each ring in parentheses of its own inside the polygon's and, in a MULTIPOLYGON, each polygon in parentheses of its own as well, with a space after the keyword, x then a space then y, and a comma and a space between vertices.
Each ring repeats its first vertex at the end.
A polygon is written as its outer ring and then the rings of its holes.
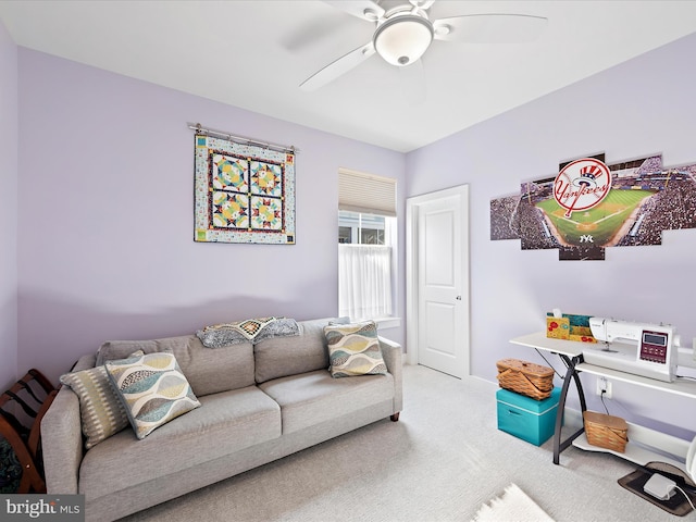
POLYGON ((0 391, 17 380, 17 47, 0 22, 0 391))

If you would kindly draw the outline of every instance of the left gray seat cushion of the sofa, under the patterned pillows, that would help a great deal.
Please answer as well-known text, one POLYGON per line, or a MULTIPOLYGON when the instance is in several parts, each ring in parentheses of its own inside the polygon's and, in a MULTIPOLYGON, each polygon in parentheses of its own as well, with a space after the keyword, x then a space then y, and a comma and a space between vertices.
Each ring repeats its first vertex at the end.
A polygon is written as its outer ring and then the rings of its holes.
POLYGON ((271 440, 281 435, 281 409, 256 386, 207 395, 201 407, 136 440, 124 430, 91 448, 79 469, 88 499, 112 494, 271 440))

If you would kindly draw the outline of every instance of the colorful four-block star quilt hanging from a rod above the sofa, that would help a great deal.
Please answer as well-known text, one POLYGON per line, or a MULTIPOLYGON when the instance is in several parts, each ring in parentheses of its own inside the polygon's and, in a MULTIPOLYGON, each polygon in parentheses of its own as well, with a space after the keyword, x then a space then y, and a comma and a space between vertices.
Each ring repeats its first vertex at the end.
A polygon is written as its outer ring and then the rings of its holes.
POLYGON ((195 240, 294 245, 296 149, 191 128, 195 240))

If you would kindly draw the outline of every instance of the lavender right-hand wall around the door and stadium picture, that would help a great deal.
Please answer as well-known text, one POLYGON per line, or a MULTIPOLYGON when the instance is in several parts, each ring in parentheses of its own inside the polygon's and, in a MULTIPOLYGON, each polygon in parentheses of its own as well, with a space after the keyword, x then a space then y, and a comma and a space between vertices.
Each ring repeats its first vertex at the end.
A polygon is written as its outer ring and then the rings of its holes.
MULTIPOLYGON (((495 381, 495 362, 506 357, 537 360, 533 350, 508 340, 544 331, 545 313, 556 307, 671 323, 691 347, 696 229, 667 232, 661 246, 609 248, 605 261, 561 262, 557 250, 522 251, 519 240, 492 241, 489 203, 584 154, 604 151, 611 163, 661 152, 666 166, 696 163, 695 54, 692 35, 407 156, 407 196, 470 186, 475 375, 495 381)), ((586 381, 594 390, 594 378, 586 381)), ((685 437, 696 431, 696 417, 683 414, 694 411, 693 401, 621 383, 613 383, 613 414, 670 424, 668 431, 685 437)), ((592 408, 604 411, 591 399, 592 408)))

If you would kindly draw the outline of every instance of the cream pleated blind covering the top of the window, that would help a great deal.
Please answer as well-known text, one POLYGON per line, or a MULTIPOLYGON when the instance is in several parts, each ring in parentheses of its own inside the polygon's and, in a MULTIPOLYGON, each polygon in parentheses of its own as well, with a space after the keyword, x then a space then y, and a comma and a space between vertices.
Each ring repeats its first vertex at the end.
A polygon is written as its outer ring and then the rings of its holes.
POLYGON ((338 210, 396 216, 396 179, 338 170, 338 210))

